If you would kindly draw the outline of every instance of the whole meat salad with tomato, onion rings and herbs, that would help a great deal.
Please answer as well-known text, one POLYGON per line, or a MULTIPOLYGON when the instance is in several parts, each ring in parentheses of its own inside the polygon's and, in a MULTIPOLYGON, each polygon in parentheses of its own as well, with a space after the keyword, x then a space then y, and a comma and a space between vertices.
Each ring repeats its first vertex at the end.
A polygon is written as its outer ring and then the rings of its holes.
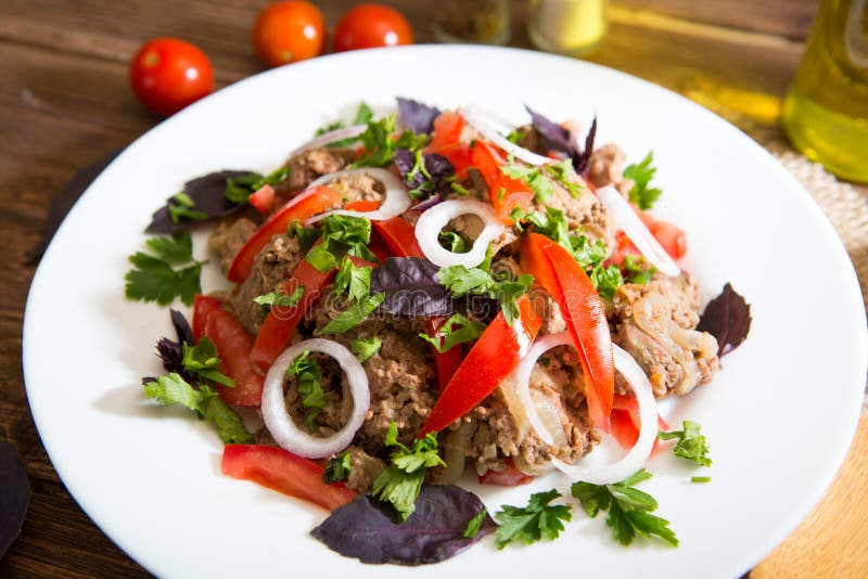
POLYGON ((572 518, 556 490, 492 516, 455 485, 468 472, 515 486, 560 471, 614 539, 677 545, 635 487, 644 461, 666 445, 711 465, 699 424, 671 427, 656 400, 711 383, 750 307, 727 284, 703 308, 684 231, 650 211, 651 153, 627 164, 595 146, 596 118, 527 113, 512 127, 362 103, 269 175, 191 180, 130 257, 129 298, 193 307, 191 322, 171 310, 145 395, 215 425, 224 474, 331 511, 312 535, 344 555, 433 563, 572 518), (230 291, 201 291, 203 224, 230 291), (625 454, 587 465, 607 436, 625 454))

